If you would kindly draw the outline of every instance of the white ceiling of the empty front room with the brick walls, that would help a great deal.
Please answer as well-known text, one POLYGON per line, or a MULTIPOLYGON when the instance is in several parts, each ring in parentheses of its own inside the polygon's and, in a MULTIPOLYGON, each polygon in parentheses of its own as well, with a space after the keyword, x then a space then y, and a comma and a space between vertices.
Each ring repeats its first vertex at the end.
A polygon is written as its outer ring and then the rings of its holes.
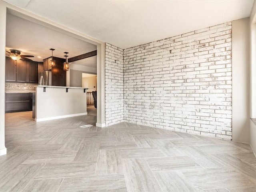
MULTIPOLYGON (((246 18, 250 16, 254 2, 254 0, 4 1, 122 49, 246 18)), ((66 47, 68 49, 69 46, 66 47)), ((73 53, 72 50, 65 51, 73 53)))

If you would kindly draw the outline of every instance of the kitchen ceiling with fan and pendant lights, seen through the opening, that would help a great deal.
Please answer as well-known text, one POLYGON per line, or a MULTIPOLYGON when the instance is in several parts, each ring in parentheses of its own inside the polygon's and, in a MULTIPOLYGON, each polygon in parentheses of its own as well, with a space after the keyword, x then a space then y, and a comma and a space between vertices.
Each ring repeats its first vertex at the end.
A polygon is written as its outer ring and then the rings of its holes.
MULTIPOLYGON (((50 48, 54 48, 53 56, 65 58, 64 52, 68 52, 68 58, 78 56, 97 49, 88 42, 68 36, 45 26, 30 22, 23 18, 7 14, 6 16, 6 50, 17 49, 22 55, 33 55, 34 61, 42 62, 44 58, 52 56, 50 48)), ((94 59, 95 60, 95 59, 94 59)), ((96 67, 92 59, 79 60, 76 64, 96 67)))

